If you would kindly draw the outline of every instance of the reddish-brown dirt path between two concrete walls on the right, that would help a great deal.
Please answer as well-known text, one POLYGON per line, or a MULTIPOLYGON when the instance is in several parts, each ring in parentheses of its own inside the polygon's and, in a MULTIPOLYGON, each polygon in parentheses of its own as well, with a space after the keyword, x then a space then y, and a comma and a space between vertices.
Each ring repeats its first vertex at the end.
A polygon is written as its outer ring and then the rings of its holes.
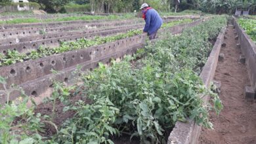
POLYGON ((220 98, 224 109, 219 117, 211 112, 210 120, 215 130, 202 130, 200 144, 223 143, 256 143, 256 103, 244 96, 244 86, 249 84, 245 64, 237 60, 242 54, 236 48, 234 31, 228 27, 224 39, 226 48, 221 49, 224 61, 219 62, 215 73, 215 80, 221 81, 220 98))

